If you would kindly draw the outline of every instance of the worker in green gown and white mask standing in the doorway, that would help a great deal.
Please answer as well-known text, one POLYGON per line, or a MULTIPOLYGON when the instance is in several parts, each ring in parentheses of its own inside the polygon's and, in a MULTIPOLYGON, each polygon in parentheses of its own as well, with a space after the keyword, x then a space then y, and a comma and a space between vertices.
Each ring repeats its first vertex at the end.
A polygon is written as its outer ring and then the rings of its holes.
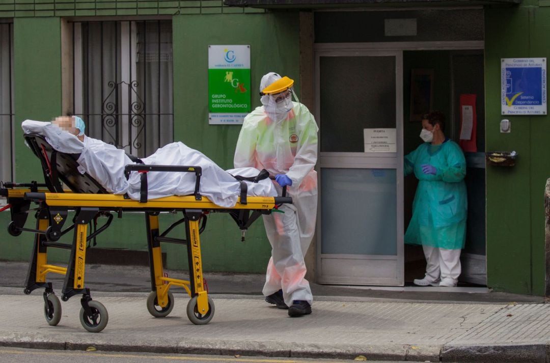
POLYGON ((420 286, 456 286, 466 240, 466 160, 444 128, 442 112, 423 115, 424 142, 404 161, 405 175, 419 180, 405 243, 422 245, 426 256, 426 275, 414 280, 420 286))

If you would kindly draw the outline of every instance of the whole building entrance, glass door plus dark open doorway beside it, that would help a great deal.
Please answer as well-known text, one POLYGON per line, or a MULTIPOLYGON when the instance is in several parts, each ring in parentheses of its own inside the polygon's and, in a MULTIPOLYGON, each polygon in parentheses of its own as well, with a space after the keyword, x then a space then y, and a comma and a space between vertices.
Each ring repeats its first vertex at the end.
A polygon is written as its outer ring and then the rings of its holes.
POLYGON ((475 134, 477 142, 465 152, 469 213, 460 281, 485 285, 483 42, 338 43, 315 49, 317 282, 400 286, 423 277, 421 247, 403 244, 417 184, 414 177, 403 178, 403 156, 422 142, 422 112, 442 111, 445 135, 459 142, 468 95, 476 113, 470 139, 475 134), (419 80, 425 89, 414 84, 419 80), (377 131, 391 136, 373 138, 377 131))

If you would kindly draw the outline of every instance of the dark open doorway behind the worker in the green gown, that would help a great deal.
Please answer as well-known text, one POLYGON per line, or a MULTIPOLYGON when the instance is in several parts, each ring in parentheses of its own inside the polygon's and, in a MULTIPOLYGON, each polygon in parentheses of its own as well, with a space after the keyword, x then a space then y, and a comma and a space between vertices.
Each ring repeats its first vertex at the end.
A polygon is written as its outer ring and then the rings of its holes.
MULTIPOLYGON (((486 285, 485 240, 485 90, 483 84, 482 50, 442 50, 403 52, 403 142, 405 155, 420 145, 420 119, 415 117, 419 106, 412 79, 423 76, 429 81, 429 92, 423 95, 423 107, 442 111, 447 117, 445 136, 459 143, 461 136, 461 96, 475 97, 476 127, 472 135, 476 142, 464 153, 466 157, 466 187, 468 193, 468 217, 466 245, 461 253, 462 273, 459 286, 465 284, 486 285), (416 102, 416 103, 415 103, 416 102), (428 106, 427 106, 428 105, 428 106)), ((426 90, 425 90, 426 91, 426 90)), ((430 111, 426 109, 425 111, 430 111)), ((405 229, 411 218, 412 200, 417 180, 414 176, 404 182, 405 229)), ((421 246, 405 245, 405 283, 422 278, 426 261, 421 246)))

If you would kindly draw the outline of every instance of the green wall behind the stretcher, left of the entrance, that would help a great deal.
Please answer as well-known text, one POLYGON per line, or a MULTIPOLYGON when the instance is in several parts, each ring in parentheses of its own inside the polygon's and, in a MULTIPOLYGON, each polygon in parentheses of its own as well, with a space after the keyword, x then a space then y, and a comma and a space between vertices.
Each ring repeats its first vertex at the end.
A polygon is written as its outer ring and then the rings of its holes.
MULTIPOLYGON (((257 89, 263 74, 274 71, 299 80, 298 14, 249 14, 240 10, 241 14, 173 17, 174 141, 200 150, 224 169, 233 167, 240 125, 208 125, 208 45, 251 46, 252 107, 260 106, 257 89)), ((14 29, 16 124, 27 118, 50 120, 62 109, 60 18, 15 18, 14 29)), ((298 84, 296 89, 299 91, 298 84)), ((16 180, 41 181, 40 164, 20 134, 17 131, 15 138, 16 180)), ((181 216, 162 213, 161 228, 181 216)), ((27 227, 33 224, 31 219, 27 227)), ((2 213, 0 223, 7 226, 8 222, 9 213, 2 213)), ((27 260, 32 235, 23 233, 13 238, 2 233, 6 243, 0 245, 0 259, 27 260)), ((172 235, 183 236, 183 227, 175 228, 172 235)), ((69 240, 65 235, 62 241, 69 240)), ((146 250, 144 216, 124 213, 97 242, 98 248, 146 250)), ((240 230, 227 213, 208 216, 201 243, 205 271, 261 273, 271 255, 261 221, 252 225, 241 242, 240 230)), ((163 244, 163 251, 168 252, 168 268, 186 268, 185 247, 163 244)), ((52 262, 67 261, 65 251, 50 249, 49 256, 52 262)))

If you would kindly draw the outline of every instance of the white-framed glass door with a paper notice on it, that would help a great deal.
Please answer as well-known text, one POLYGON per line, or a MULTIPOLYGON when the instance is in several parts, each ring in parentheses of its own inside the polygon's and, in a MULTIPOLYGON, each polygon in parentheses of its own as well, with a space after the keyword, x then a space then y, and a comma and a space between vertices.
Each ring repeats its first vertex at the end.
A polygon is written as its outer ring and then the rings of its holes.
POLYGON ((317 48, 317 282, 403 285, 401 51, 317 48))

